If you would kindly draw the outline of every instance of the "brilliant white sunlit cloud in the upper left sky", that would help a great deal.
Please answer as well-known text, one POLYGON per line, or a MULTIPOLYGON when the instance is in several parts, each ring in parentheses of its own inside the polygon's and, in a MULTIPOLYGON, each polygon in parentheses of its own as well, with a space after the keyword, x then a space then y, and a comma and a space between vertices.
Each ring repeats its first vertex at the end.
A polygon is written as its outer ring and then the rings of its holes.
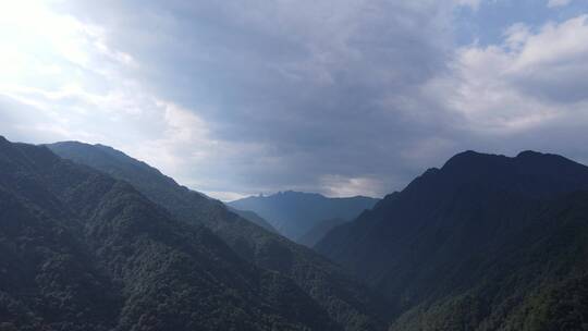
POLYGON ((110 145, 204 187, 222 171, 211 163, 231 148, 210 136, 198 110, 158 98, 133 77, 139 63, 102 27, 26 0, 2 2, 0 27, 1 134, 110 145), (197 167, 194 181, 186 173, 197 167))

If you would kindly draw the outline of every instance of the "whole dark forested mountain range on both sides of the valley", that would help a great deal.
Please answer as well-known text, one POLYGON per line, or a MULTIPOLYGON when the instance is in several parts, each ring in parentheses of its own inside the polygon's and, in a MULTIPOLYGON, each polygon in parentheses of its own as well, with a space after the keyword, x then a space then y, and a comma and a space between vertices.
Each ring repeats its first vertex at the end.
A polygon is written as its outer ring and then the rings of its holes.
POLYGON ((111 147, 0 137, 0 330, 588 330, 588 167, 466 151, 370 201, 305 219, 313 250, 111 147))

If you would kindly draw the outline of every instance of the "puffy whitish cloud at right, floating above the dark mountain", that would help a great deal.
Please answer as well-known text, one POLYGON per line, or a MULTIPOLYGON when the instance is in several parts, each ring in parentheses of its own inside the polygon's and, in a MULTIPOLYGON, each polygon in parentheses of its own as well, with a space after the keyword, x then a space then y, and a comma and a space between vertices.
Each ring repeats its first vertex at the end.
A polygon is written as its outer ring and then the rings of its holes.
POLYGON ((532 32, 507 29, 502 45, 464 47, 452 71, 425 87, 430 98, 457 112, 462 128, 517 134, 574 121, 588 109, 588 16, 532 32))

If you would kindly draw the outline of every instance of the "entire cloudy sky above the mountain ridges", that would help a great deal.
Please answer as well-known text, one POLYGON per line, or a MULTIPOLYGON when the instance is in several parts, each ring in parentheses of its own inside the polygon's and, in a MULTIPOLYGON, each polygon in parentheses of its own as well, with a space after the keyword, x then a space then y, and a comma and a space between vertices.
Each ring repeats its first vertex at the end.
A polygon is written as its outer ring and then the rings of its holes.
POLYGON ((469 149, 588 163, 588 0, 0 0, 0 135, 222 200, 380 197, 469 149))

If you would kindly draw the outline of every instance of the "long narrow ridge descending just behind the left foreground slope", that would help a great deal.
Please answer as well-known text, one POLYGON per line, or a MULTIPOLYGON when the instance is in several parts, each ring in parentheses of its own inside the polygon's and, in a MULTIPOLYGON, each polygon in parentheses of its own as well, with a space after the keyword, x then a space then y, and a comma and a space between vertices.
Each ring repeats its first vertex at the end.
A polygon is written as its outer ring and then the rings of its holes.
POLYGON ((223 204, 177 185, 156 169, 101 145, 48 145, 59 156, 131 183, 187 224, 204 224, 242 258, 292 279, 344 330, 384 330, 390 307, 379 295, 314 250, 254 224, 223 204))

